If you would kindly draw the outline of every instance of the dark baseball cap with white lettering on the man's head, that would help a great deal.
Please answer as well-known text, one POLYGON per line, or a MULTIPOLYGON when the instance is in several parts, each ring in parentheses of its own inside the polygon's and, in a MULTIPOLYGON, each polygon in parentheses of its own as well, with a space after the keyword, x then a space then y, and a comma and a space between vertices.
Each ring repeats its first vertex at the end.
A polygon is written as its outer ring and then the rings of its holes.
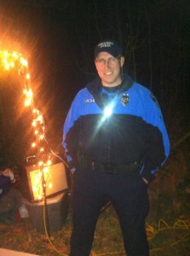
POLYGON ((106 40, 97 44, 95 46, 95 58, 102 51, 106 51, 115 58, 117 58, 119 55, 122 55, 121 46, 118 44, 118 42, 114 40, 106 40))

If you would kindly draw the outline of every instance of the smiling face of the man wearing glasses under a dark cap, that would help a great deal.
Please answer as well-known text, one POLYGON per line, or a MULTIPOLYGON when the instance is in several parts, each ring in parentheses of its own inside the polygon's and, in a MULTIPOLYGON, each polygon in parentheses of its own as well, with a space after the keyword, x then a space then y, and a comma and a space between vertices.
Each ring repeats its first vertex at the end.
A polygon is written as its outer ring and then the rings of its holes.
POLYGON ((114 58, 103 51, 95 59, 95 67, 101 78, 102 84, 106 87, 114 87, 121 84, 122 78, 120 69, 124 65, 124 57, 114 58))

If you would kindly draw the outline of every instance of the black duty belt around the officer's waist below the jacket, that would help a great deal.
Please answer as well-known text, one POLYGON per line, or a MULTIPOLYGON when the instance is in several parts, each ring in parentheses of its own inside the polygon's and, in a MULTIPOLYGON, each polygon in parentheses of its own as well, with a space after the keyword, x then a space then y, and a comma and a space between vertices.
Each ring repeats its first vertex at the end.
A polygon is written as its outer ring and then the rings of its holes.
POLYGON ((104 164, 96 161, 82 160, 79 165, 83 169, 92 169, 100 172, 107 172, 110 174, 137 172, 141 169, 142 161, 134 161, 127 164, 104 164))

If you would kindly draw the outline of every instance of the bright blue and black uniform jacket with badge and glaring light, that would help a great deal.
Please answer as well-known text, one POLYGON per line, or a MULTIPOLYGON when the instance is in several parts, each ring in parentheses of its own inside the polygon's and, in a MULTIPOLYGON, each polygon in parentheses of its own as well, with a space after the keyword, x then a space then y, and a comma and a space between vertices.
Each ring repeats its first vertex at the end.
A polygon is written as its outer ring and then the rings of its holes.
POLYGON ((97 78, 78 92, 66 117, 63 147, 71 169, 81 158, 111 165, 142 160, 141 177, 150 181, 169 156, 170 140, 153 93, 124 76, 114 89, 97 78))

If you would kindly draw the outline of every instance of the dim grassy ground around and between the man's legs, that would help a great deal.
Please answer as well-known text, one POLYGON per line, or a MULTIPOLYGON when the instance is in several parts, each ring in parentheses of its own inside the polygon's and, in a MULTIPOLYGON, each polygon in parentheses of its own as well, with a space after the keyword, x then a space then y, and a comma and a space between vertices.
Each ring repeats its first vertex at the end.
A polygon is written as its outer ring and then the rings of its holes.
MULTIPOLYGON (((152 208, 147 218, 150 255, 189 256, 190 209, 180 207, 176 211, 171 201, 166 204, 166 198, 164 203, 161 203, 162 199, 162 197, 158 198, 157 204, 155 204, 157 208, 152 208), (158 208, 160 211, 158 211, 158 208)), ((178 200, 182 203, 180 195, 178 195, 178 200)), ((187 201, 184 201, 183 206, 186 204, 187 201)), ((71 232, 71 213, 60 231, 51 232, 50 243, 45 234, 33 228, 30 218, 22 218, 11 226, 0 224, 1 247, 44 256, 68 255, 71 232)), ((95 230, 92 255, 125 255, 118 218, 112 206, 107 207, 101 213, 95 230)))

